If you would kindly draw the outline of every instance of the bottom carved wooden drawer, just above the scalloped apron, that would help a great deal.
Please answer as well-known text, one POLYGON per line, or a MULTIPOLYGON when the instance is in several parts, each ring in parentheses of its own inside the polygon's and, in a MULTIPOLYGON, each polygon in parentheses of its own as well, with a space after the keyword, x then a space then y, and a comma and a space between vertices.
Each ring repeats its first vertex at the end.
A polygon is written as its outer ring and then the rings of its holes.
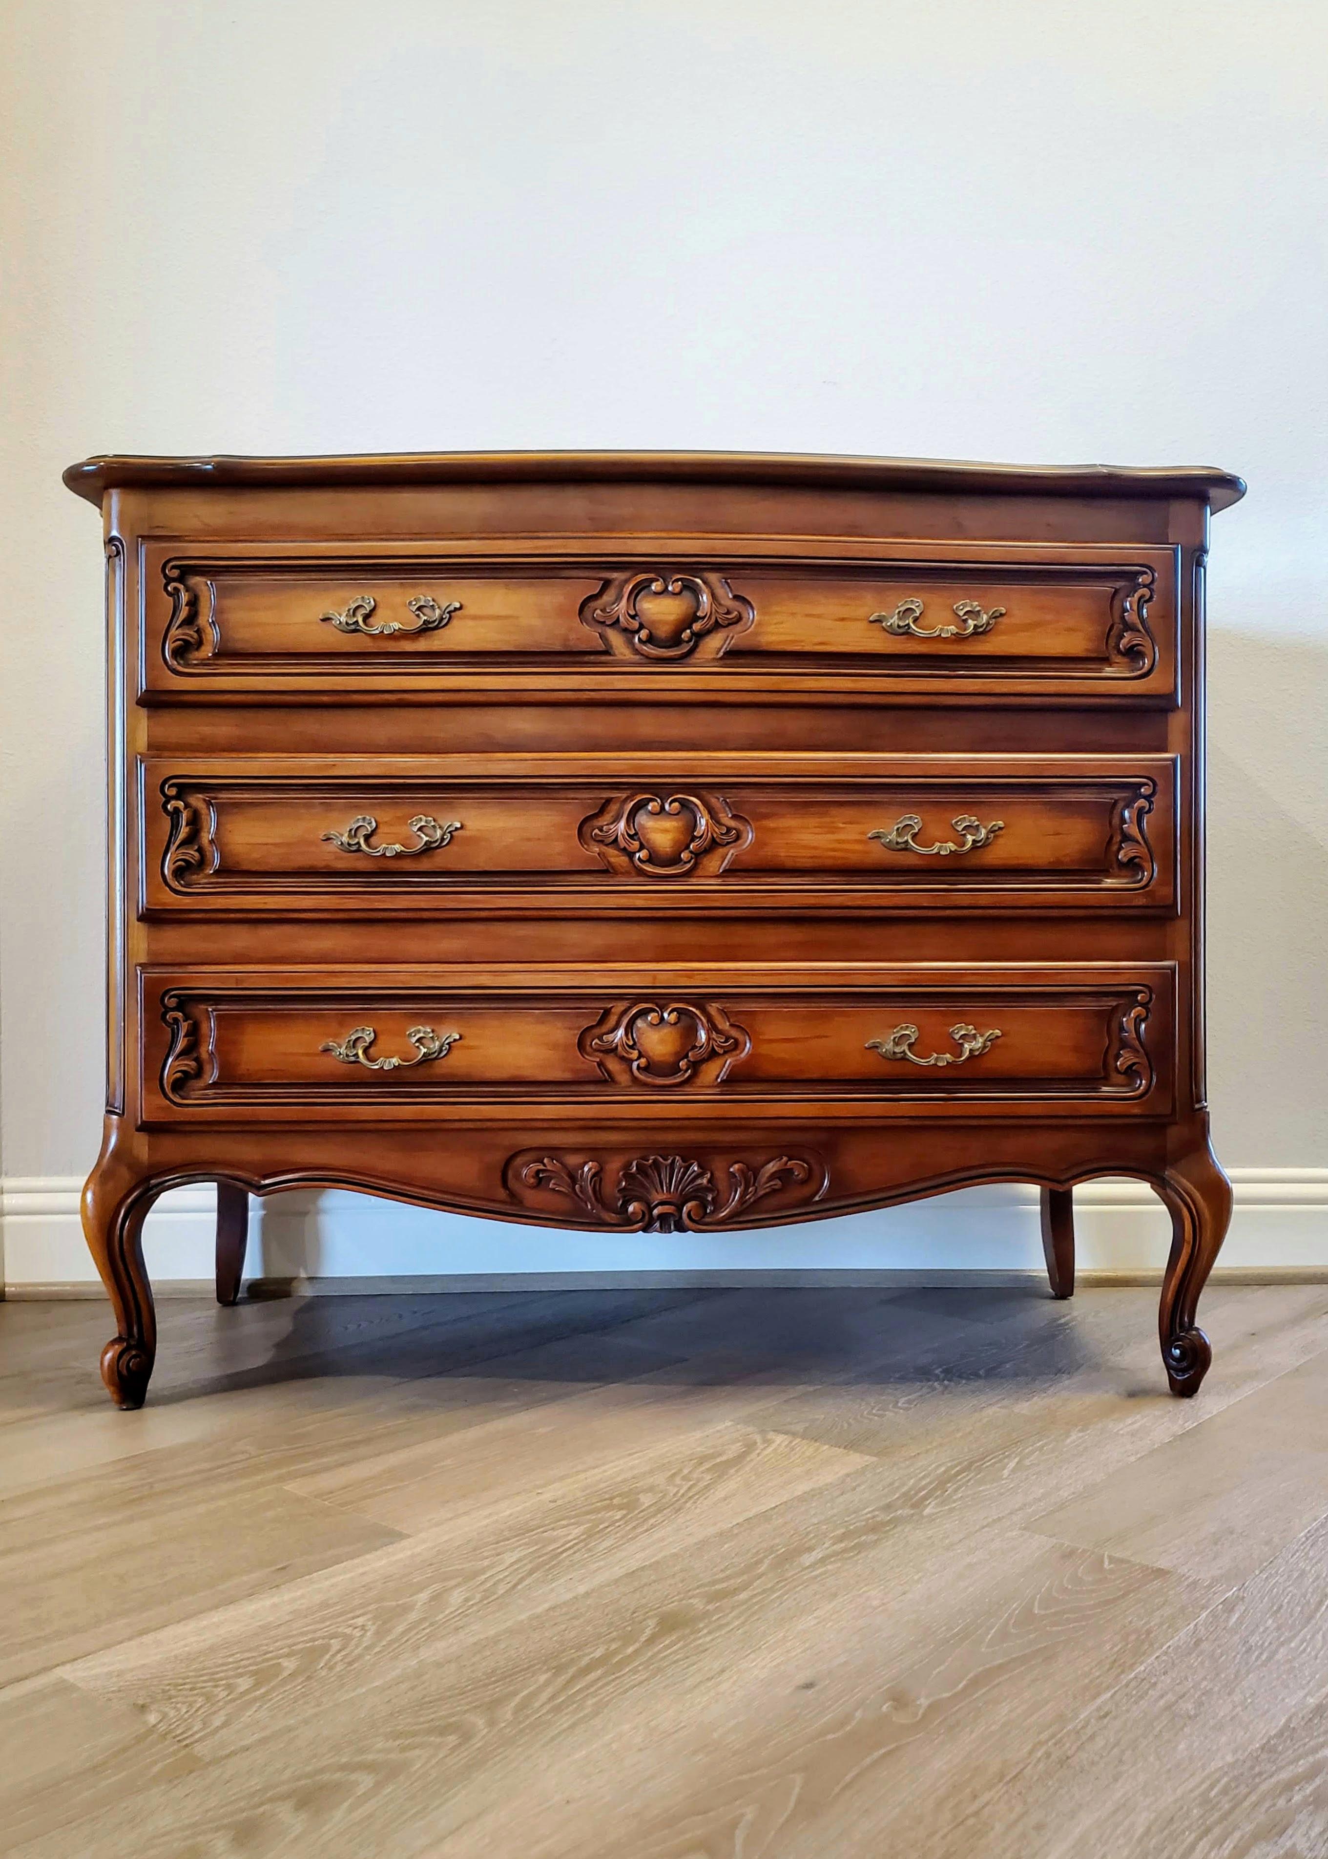
POLYGON ((1172 970, 143 970, 149 1114, 420 1115, 438 1104, 1062 1102, 1165 1114, 1172 970), (899 970, 895 974, 901 974, 899 970), (771 985, 776 982, 778 985, 771 985), (617 983, 617 985, 615 985, 617 983))

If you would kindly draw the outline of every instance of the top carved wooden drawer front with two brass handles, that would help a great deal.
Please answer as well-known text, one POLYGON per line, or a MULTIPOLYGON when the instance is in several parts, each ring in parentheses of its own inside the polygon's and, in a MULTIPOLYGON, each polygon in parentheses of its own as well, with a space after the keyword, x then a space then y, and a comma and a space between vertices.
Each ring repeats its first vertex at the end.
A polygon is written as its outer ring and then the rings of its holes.
POLYGON ((622 537, 141 545, 149 701, 600 686, 1176 695, 1178 550, 622 537), (765 552, 763 552, 765 550, 765 552))

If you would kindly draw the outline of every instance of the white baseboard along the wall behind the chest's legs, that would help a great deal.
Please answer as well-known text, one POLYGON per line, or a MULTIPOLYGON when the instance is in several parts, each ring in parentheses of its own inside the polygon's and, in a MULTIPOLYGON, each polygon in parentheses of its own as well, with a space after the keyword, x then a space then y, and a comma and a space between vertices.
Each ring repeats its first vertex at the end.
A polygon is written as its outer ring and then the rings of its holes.
MULTIPOLYGON (((1215 1275, 1328 1273, 1328 1167, 1231 1169, 1235 1214, 1215 1275)), ((76 1177, 0 1184, 6 1296, 78 1296, 98 1279, 78 1223, 76 1177)), ((212 1281, 215 1195, 178 1188, 149 1214, 143 1244, 163 1292, 212 1281)), ((1142 1182, 1075 1188, 1079 1272, 1155 1279, 1170 1221, 1142 1182)), ((609 1285, 1022 1283, 1042 1272, 1036 1190, 966 1188, 871 1214, 760 1233, 561 1233, 435 1214, 342 1190, 251 1203, 247 1275, 331 1290, 609 1285)))

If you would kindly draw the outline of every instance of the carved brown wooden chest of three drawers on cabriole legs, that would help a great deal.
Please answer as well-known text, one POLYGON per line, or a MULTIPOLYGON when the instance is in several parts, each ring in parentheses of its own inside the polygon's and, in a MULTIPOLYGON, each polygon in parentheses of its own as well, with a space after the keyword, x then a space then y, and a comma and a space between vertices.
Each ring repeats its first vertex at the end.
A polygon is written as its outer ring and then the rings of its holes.
MULTIPOLYGON (((1204 558, 1239 480, 906 459, 89 459, 110 1067, 87 1240, 347 1186, 550 1227, 970 1182, 1168 1205, 1170 1385, 1230 1190, 1204 1099, 1204 558)), ((808 1244, 814 1244, 810 1238, 808 1244)))

